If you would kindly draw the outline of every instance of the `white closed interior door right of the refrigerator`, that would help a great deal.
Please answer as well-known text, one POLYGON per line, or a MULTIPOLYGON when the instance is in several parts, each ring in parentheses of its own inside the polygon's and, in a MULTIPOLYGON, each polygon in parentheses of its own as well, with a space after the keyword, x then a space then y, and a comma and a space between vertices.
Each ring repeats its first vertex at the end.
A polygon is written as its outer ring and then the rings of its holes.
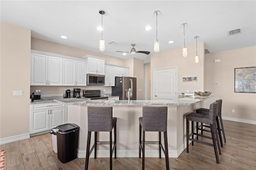
POLYGON ((154 100, 177 99, 176 69, 154 70, 154 100))

